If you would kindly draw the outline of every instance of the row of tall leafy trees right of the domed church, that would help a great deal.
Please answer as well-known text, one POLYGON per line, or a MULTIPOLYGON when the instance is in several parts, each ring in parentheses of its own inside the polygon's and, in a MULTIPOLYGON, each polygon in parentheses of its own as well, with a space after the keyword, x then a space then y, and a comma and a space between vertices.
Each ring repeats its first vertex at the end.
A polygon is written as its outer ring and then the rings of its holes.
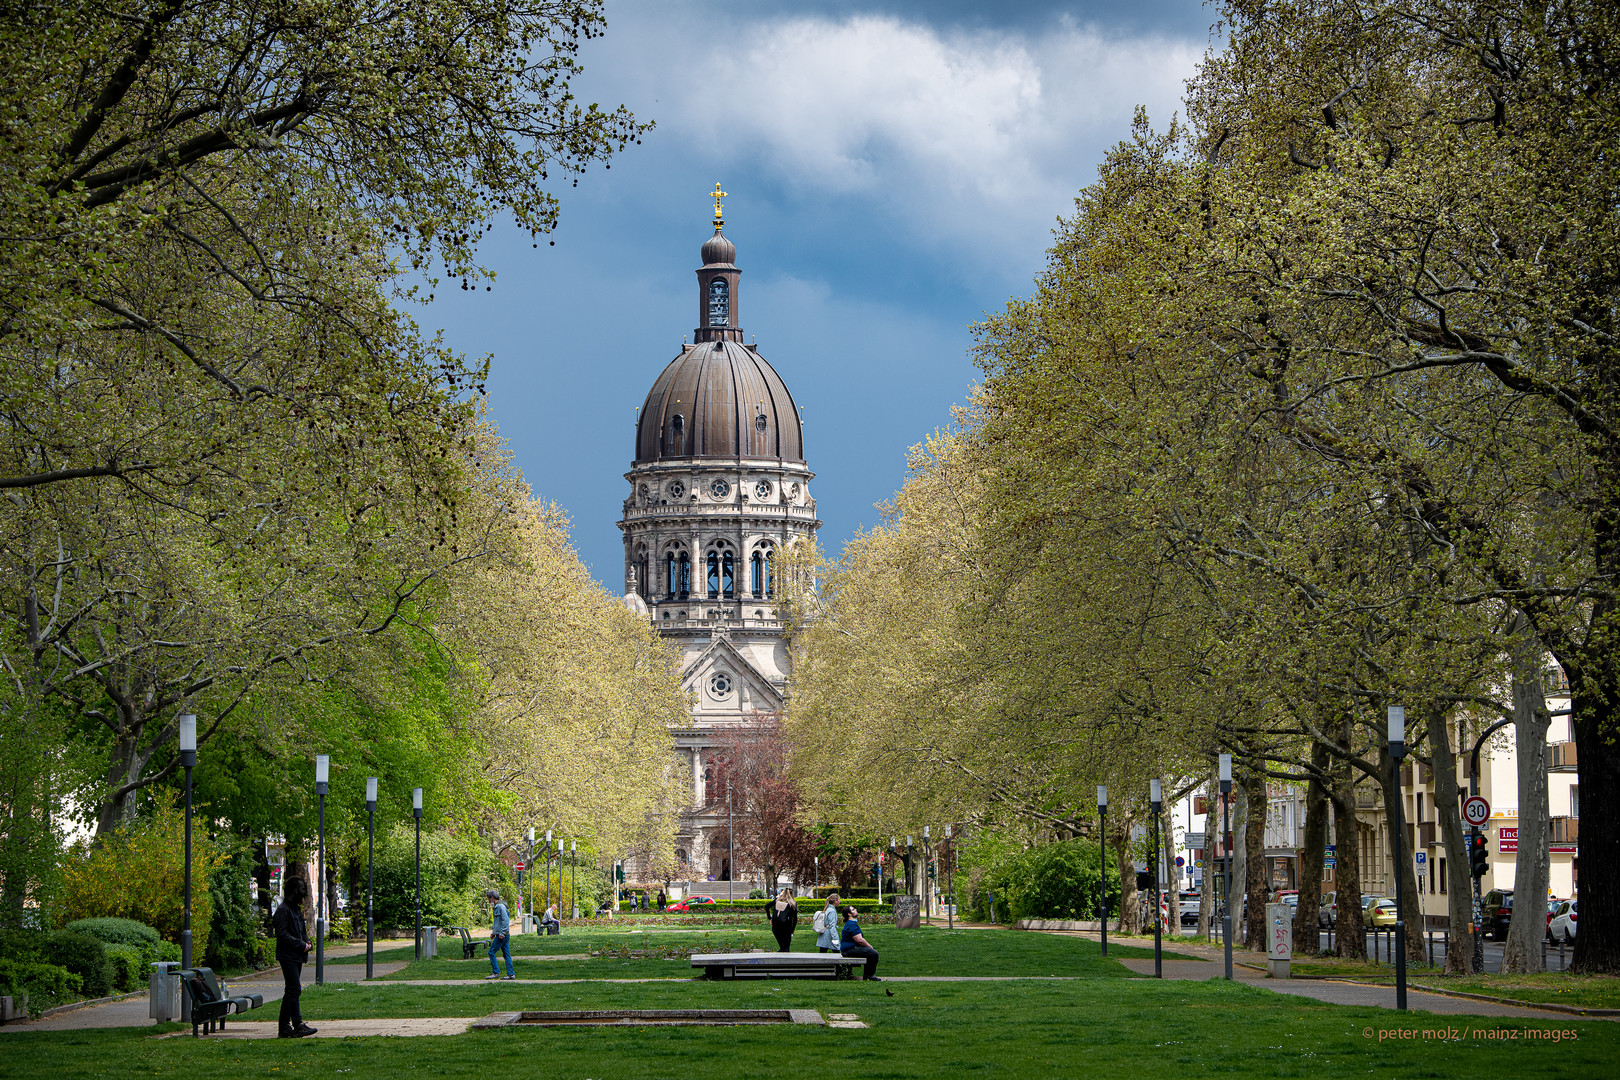
MULTIPOLYGON (((1520 850, 1544 850, 1550 656, 1586 810, 1575 968, 1620 970, 1620 16, 1225 18, 1186 117, 1137 118, 1035 295, 980 327, 972 408, 802 599, 795 767, 833 819, 1066 834, 1095 819, 1094 784, 1204 784, 1228 750, 1251 855, 1265 780, 1306 785, 1311 866, 1327 803, 1341 827, 1361 782, 1395 806, 1383 712, 1405 704, 1461 926, 1455 758, 1513 719, 1520 850)), ((1110 813, 1121 853, 1134 801, 1110 813)), ((1354 847, 1341 834, 1341 895, 1354 847)), ((1521 858, 1520 894, 1545 873, 1521 858)), ((1358 913, 1340 918, 1358 949, 1358 913)), ((1539 965, 1541 933, 1520 905, 1510 967, 1539 965)))

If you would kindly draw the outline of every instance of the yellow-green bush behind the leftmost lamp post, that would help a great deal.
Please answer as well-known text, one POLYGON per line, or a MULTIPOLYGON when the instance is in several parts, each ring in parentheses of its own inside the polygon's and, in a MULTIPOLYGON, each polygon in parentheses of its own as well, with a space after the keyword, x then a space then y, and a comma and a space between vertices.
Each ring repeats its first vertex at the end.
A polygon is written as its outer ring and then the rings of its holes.
MULTIPOLYGON (((162 806, 149 818, 99 837, 94 845, 76 845, 62 871, 60 916, 117 915, 156 928, 165 941, 180 941, 185 921, 185 829, 186 816, 173 806, 162 806)), ((209 879, 220 861, 212 842, 193 837, 191 942, 198 957, 207 954, 214 915, 209 879)))

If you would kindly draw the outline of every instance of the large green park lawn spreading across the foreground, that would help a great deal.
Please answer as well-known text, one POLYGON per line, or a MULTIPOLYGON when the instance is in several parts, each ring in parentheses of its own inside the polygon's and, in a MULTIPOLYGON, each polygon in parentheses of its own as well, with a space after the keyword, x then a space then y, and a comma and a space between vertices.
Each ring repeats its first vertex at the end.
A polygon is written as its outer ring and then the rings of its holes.
MULTIPOLYGON (((552 950, 608 944, 629 936, 575 933, 523 941, 552 950)), ((642 936, 635 936, 642 938, 642 936)), ((467 983, 400 986, 337 984, 305 991, 305 1015, 480 1017, 514 1009, 808 1007, 852 1012, 867 1030, 753 1028, 509 1028, 450 1038, 306 1041, 152 1040, 152 1028, 6 1031, 0 1077, 79 1080, 159 1075, 219 1077, 557 1077, 666 1080, 807 1075, 907 1080, 987 1077, 1571 1077, 1609 1075, 1620 1054, 1620 1025, 1602 1020, 1468 1020, 1396 1015, 1285 997, 1244 984, 1173 983, 1129 976, 1103 960, 1097 942, 1014 931, 896 931, 873 928, 883 973, 1072 975, 964 983, 724 981, 690 978, 609 983, 616 960, 544 962, 556 972, 591 972, 580 983, 523 986, 467 983), (1560 1041, 1502 1038, 1424 1040, 1421 1031, 1576 1033, 1560 1041), (1419 1031, 1380 1041, 1380 1033, 1419 1031)), ((807 939, 808 941, 808 939, 807 939)), ((1115 952, 1115 947, 1110 947, 1115 952)), ((1145 950, 1131 949, 1140 954, 1145 950)), ((533 955, 533 954, 530 954, 533 955)), ((457 960, 424 963, 434 973, 457 960)), ((661 962, 635 962, 658 965, 661 962)), ((664 970, 682 965, 663 962, 664 970)), ((269 1009, 266 1009, 269 1014, 269 1009)), ((264 1017, 272 1020, 271 1015, 264 1017)))

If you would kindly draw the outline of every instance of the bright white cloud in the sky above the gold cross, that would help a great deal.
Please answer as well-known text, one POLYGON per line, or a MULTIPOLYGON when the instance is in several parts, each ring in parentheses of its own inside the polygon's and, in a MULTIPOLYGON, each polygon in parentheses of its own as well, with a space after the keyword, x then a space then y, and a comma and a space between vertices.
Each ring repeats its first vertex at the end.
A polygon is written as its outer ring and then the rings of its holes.
POLYGON ((619 18, 608 47, 629 53, 611 63, 633 73, 630 104, 661 139, 763 167, 800 196, 878 201, 930 243, 1019 249, 1045 246, 1136 105, 1168 123, 1204 52, 1072 23, 727 21, 682 3, 619 18))

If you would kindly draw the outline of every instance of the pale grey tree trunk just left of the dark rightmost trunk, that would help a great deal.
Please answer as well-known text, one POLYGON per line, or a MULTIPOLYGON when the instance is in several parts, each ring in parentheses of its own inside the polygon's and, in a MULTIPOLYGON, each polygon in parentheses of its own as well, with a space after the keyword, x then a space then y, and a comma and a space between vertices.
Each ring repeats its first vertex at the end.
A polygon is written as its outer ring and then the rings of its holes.
MULTIPOLYGON (((1541 972, 1541 944, 1547 936, 1547 691, 1542 687, 1541 641, 1518 620, 1513 643, 1513 733, 1518 750, 1520 850, 1513 870, 1513 918, 1502 950, 1503 972, 1541 972)), ((1584 926, 1581 929, 1586 929, 1584 926)))

